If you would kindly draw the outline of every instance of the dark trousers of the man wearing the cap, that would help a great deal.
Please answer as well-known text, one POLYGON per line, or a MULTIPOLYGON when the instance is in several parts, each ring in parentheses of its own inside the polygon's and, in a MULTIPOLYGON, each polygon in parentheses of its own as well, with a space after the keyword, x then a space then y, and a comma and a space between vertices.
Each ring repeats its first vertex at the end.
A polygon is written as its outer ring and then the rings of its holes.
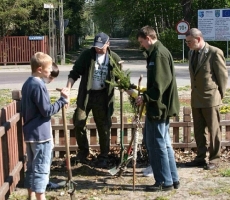
POLYGON ((91 91, 86 109, 82 110, 81 108, 77 108, 74 112, 75 136, 79 152, 83 154, 89 153, 89 142, 85 125, 91 110, 99 135, 100 156, 107 157, 110 148, 111 117, 108 116, 108 101, 105 89, 91 91))

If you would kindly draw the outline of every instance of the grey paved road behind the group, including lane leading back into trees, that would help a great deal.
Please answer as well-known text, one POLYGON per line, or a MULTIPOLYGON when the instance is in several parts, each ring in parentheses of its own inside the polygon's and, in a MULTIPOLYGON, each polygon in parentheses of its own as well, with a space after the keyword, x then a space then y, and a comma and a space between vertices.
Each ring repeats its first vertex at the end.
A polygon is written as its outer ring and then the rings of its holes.
MULTIPOLYGON (((146 61, 141 60, 143 58, 141 52, 135 49, 128 49, 127 39, 112 38, 110 43, 111 49, 117 52, 121 57, 125 58, 123 69, 129 69, 131 71, 131 82, 137 84, 140 75, 143 74, 144 78, 142 79, 142 85, 146 85, 146 61)), ((47 85, 48 89, 64 87, 71 68, 72 65, 59 65, 60 74, 54 82, 47 85)), ((177 85, 190 85, 188 64, 175 64, 175 69, 177 85)), ((230 69, 228 70, 230 74, 230 69)), ((0 66, 0 89, 21 89, 22 84, 29 76, 29 65, 0 66)), ((75 83, 74 88, 78 88, 78 85, 79 81, 75 83)), ((230 86, 230 80, 228 85, 230 86)))

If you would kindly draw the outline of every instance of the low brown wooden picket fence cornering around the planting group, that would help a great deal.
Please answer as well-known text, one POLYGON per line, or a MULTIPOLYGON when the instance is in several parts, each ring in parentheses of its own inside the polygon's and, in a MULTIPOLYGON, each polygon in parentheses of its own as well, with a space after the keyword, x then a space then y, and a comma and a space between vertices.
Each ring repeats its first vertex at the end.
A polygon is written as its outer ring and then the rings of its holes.
MULTIPOLYGON (((20 116, 21 92, 13 91, 14 101, 0 110, 0 199, 7 199, 17 184, 23 184, 25 172, 25 143, 23 142, 22 118, 20 116)), ((230 114, 222 116, 222 146, 230 146, 230 114)), ((144 122, 142 122, 144 125, 144 122)), ((68 121, 70 151, 76 152, 77 145, 72 120, 68 121)), ((52 119, 54 138, 54 156, 65 154, 65 139, 62 119, 52 119)), ((93 118, 87 124, 89 144, 92 149, 99 148, 98 134, 93 118)), ((124 144, 128 145, 135 124, 124 117, 124 144)), ((141 131, 140 131, 141 132, 141 131)), ((170 123, 170 136, 174 149, 191 149, 196 147, 193 138, 193 122, 190 107, 183 108, 183 116, 173 118, 170 123)), ((140 134, 142 135, 142 134, 140 134)), ((111 147, 119 147, 120 122, 112 119, 111 147)), ((141 140, 140 140, 141 142, 141 140)))

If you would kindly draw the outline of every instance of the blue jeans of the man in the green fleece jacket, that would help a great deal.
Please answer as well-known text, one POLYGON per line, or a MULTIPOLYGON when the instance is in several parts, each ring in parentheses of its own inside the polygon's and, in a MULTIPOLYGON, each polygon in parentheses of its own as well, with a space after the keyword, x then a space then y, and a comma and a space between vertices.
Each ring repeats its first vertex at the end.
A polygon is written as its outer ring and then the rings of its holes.
POLYGON ((146 145, 156 184, 170 186, 179 180, 169 135, 169 119, 145 120, 146 145))

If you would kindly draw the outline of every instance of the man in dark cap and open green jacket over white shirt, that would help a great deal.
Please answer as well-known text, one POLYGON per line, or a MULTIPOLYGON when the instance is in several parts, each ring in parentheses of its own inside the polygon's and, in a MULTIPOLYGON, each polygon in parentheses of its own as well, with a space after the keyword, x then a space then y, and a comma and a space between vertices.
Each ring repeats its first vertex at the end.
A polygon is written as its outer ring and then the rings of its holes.
POLYGON ((77 108, 73 115, 74 131, 78 144, 76 161, 85 163, 89 155, 89 143, 86 133, 86 120, 92 111, 97 126, 100 154, 96 167, 107 168, 110 150, 111 116, 114 107, 114 87, 105 81, 114 81, 112 74, 114 62, 120 57, 110 50, 109 36, 103 32, 94 38, 93 46, 84 50, 75 61, 68 75, 66 87, 72 88, 79 78, 80 85, 77 96, 77 108))

